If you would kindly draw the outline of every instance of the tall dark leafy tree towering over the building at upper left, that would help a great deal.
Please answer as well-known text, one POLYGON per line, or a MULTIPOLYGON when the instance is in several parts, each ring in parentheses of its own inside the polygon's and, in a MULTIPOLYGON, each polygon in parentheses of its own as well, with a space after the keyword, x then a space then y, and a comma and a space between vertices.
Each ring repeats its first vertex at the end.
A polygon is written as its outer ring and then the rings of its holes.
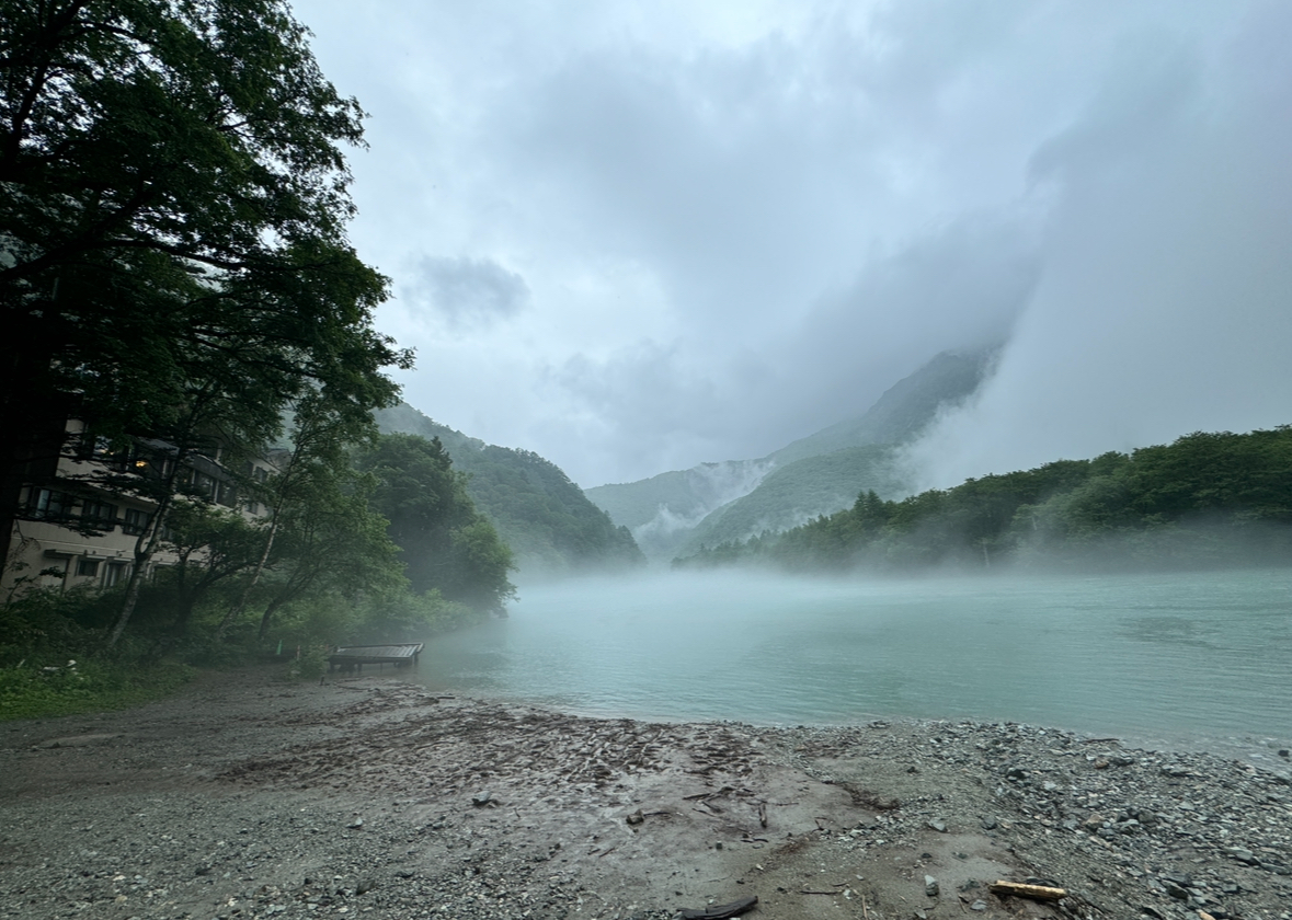
POLYGON ((0 540, 70 416, 178 465, 306 390, 393 399, 345 236, 362 111, 306 35, 278 0, 0 0, 0 540))

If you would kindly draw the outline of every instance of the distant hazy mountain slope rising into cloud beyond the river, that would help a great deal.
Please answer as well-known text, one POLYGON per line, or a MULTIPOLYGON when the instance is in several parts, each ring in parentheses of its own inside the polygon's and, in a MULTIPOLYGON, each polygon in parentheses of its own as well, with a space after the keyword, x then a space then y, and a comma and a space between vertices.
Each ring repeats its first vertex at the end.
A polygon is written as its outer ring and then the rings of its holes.
POLYGON ((944 351, 881 395, 862 416, 841 421, 758 460, 687 470, 587 490, 647 556, 668 559, 700 545, 744 540, 846 508, 875 490, 897 495, 891 447, 910 441, 972 394, 996 349, 944 351))

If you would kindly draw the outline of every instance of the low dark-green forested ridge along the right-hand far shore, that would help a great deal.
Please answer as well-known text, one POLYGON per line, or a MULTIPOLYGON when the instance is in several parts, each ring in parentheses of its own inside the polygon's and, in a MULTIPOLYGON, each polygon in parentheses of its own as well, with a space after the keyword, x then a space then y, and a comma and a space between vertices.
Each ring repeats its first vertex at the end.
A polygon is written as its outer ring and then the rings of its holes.
POLYGON ((829 517, 677 565, 733 562, 820 571, 1288 565, 1292 426, 1199 432, 901 501, 868 492, 829 517))

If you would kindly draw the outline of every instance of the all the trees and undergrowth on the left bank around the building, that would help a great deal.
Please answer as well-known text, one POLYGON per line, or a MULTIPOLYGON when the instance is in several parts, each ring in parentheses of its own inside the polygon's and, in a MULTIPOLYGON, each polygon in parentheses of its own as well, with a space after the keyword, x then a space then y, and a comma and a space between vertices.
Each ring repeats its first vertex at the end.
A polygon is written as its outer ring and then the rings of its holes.
POLYGON ((513 594, 443 446, 379 437, 386 371, 412 354, 373 328, 389 279, 346 238, 363 111, 279 0, 0 1, 3 716, 124 704, 266 651, 317 671, 328 642, 513 594), (59 477, 63 456, 101 463, 59 477), (187 482, 213 457, 236 510, 187 482), (255 459, 274 474, 240 474, 255 459), (13 571, 36 487, 147 503, 125 584, 13 571), (163 550, 178 563, 150 581, 163 550))

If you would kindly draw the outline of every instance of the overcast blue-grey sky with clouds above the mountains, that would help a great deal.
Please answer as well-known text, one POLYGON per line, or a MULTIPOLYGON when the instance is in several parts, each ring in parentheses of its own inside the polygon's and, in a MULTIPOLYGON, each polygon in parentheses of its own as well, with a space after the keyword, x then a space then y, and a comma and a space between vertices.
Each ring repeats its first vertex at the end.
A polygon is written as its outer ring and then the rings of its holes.
POLYGON ((1008 340, 925 482, 1292 423, 1292 4, 298 0, 404 398, 583 486, 1008 340))

